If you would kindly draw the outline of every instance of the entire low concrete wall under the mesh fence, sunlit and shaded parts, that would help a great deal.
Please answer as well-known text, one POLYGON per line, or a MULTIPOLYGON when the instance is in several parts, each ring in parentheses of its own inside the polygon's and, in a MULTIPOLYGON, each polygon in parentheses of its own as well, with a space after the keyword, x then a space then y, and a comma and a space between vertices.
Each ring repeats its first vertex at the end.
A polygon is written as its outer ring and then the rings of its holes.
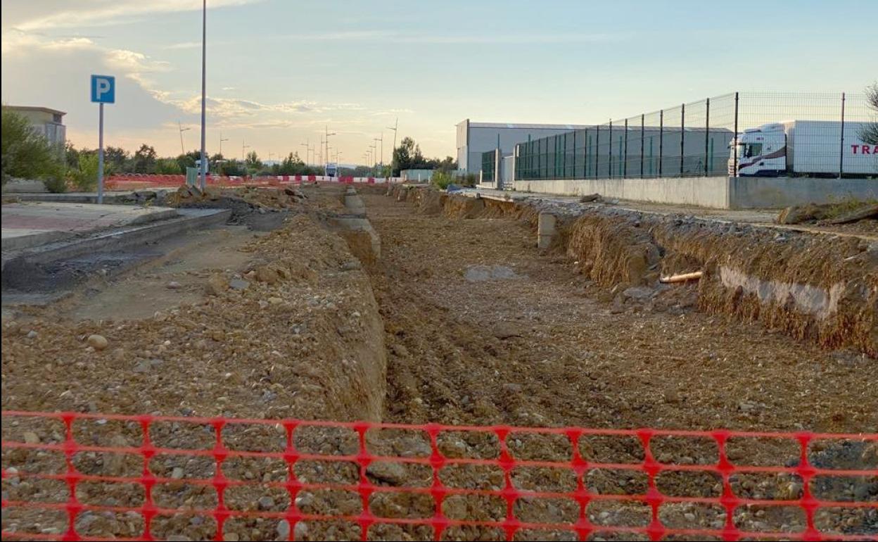
POLYGON ((840 199, 878 199, 878 180, 810 177, 663 177, 515 181, 515 190, 631 199, 717 209, 782 208, 840 199))

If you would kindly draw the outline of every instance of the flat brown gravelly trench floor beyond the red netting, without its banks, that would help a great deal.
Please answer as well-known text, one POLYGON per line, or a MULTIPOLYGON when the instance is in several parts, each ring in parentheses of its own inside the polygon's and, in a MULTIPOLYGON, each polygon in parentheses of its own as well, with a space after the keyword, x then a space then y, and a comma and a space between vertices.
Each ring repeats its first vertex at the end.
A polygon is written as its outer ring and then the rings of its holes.
POLYGON ((862 384, 870 358, 691 308, 615 307, 563 254, 540 254, 527 224, 365 201, 384 249, 372 280, 389 419, 878 429, 878 396, 862 384))

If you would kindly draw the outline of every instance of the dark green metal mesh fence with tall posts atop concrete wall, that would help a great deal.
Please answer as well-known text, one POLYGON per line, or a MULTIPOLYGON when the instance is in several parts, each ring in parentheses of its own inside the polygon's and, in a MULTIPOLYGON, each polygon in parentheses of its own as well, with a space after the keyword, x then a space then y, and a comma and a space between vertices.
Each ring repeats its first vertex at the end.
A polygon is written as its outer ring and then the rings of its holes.
POLYGON ((860 94, 733 92, 521 143, 515 178, 876 177, 876 121, 860 94))

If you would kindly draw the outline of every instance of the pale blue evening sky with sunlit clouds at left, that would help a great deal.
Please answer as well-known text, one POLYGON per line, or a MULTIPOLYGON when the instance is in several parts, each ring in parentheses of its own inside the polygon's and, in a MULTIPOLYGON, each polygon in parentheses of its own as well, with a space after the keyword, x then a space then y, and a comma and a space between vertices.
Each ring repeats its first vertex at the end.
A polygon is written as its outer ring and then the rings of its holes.
MULTIPOLYGON (((456 155, 455 125, 596 124, 734 90, 860 92, 878 2, 208 0, 209 153, 365 163, 393 131, 456 155), (245 147, 246 146, 246 147, 245 147)), ((97 147, 90 74, 116 76, 107 145, 200 144, 201 2, 4 0, 4 105, 67 112, 97 147)))

